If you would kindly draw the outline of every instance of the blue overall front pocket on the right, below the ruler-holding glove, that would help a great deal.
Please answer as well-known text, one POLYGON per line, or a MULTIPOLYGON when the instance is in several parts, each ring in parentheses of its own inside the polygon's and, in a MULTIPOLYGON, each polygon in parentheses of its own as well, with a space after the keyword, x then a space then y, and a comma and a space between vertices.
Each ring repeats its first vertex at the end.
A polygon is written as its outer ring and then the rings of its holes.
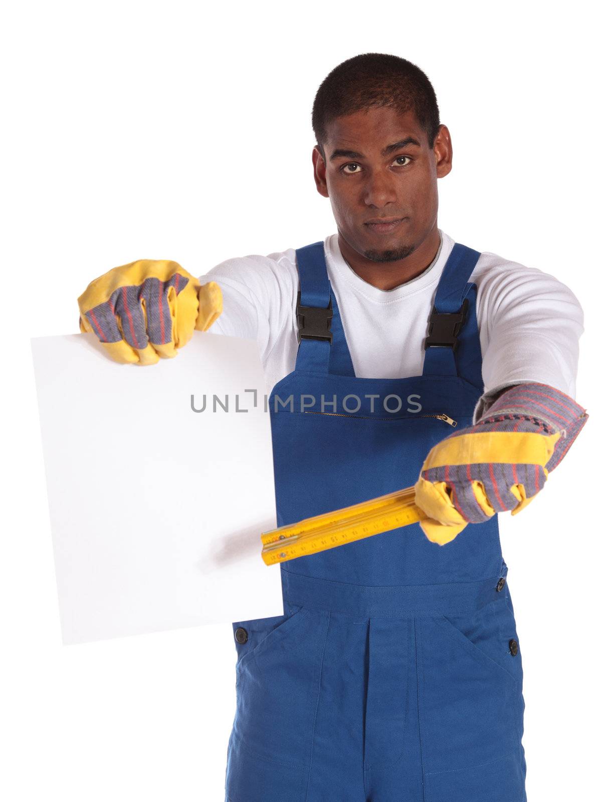
POLYGON ((458 617, 461 625, 464 618, 475 642, 452 617, 416 619, 420 738, 429 775, 476 767, 483 772, 484 765, 521 747, 521 685, 492 656, 492 644, 501 638, 492 604, 458 617))

